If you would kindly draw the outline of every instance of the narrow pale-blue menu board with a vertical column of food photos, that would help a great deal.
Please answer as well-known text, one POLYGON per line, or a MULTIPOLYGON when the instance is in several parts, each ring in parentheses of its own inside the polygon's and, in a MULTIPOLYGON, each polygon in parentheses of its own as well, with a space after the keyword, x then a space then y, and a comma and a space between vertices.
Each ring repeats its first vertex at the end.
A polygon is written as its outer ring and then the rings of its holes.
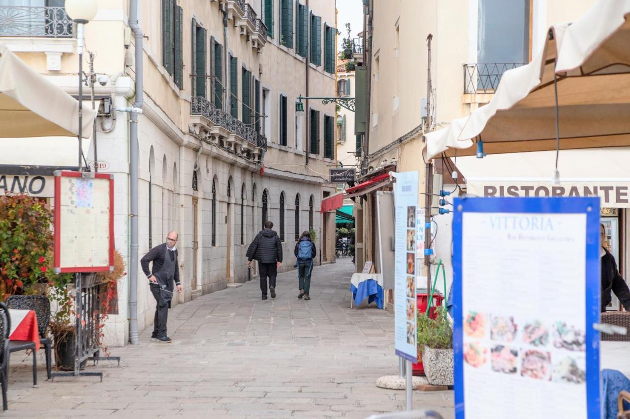
POLYGON ((418 172, 396 174, 396 269, 394 280, 394 315, 396 355, 417 362, 416 327, 416 218, 418 208, 418 172))

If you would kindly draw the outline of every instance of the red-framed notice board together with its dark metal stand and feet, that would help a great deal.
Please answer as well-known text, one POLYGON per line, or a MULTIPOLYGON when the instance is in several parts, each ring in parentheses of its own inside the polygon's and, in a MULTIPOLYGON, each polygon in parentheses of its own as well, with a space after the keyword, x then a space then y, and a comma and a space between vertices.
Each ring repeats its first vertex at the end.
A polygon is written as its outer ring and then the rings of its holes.
POLYGON ((101 357, 100 282, 96 272, 113 271, 113 175, 55 171, 54 272, 74 273, 76 319, 74 371, 52 372, 52 377, 96 376, 103 372, 81 371, 81 363, 116 360, 101 357))

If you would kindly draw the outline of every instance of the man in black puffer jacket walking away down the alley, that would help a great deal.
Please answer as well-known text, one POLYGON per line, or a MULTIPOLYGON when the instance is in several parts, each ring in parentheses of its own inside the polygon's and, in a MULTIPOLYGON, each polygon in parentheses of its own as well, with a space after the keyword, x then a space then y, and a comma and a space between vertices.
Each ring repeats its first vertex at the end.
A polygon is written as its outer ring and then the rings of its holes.
POLYGON ((267 277, 269 277, 269 293, 275 298, 275 278, 278 268, 282 264, 282 242, 278 234, 272 230, 273 223, 265 222, 265 228, 254 238, 247 249, 247 265, 251 267, 251 260, 258 260, 260 271, 260 291, 263 299, 267 299, 267 277))

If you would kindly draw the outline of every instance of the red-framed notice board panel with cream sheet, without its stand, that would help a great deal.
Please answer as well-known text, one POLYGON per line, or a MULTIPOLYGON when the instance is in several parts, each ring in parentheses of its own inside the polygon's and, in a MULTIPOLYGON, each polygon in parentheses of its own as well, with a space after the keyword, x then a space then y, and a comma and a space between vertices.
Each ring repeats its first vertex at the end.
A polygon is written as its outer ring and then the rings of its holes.
POLYGON ((55 273, 113 271, 113 206, 112 174, 55 171, 55 273))

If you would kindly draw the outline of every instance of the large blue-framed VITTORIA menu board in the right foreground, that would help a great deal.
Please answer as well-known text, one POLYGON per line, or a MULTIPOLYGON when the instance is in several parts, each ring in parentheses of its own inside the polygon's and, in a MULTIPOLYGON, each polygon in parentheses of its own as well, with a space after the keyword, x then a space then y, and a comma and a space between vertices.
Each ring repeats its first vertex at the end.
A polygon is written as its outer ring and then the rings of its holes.
POLYGON ((600 417, 599 198, 454 201, 455 417, 600 417))

